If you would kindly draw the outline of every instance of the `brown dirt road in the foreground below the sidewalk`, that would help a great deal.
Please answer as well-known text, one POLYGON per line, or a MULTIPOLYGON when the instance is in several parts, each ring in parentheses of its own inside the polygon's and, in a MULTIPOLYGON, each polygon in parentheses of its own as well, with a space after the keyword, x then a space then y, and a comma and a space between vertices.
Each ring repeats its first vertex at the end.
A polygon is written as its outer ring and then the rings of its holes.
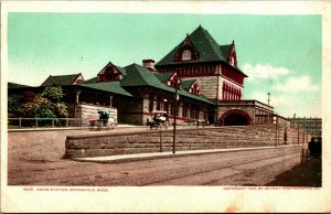
POLYGON ((282 147, 120 163, 77 162, 61 158, 63 132, 29 135, 9 133, 10 185, 265 185, 300 161, 300 147, 282 147))

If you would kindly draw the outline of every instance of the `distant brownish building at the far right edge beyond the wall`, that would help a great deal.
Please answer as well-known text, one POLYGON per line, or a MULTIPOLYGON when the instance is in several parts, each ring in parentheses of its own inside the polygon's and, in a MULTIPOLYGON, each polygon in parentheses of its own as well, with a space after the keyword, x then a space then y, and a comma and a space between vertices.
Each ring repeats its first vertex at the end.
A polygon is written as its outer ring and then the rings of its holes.
POLYGON ((309 132, 312 137, 322 137, 322 119, 311 117, 288 118, 291 127, 296 127, 309 132))

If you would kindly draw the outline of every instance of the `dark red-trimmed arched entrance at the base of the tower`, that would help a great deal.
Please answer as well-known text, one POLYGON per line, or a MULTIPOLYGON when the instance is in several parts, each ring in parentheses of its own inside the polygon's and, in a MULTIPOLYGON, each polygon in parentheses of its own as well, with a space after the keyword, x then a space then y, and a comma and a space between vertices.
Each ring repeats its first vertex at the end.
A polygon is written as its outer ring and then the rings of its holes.
POLYGON ((249 115, 241 109, 227 110, 220 118, 221 126, 247 126, 250 121, 249 115))

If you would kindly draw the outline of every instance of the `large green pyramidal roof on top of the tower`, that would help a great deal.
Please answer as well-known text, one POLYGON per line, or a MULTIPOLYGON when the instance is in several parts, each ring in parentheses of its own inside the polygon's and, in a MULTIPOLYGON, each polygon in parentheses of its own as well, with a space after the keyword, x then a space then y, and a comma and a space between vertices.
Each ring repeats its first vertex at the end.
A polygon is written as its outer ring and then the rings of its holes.
MULTIPOLYGON (((215 61, 226 60, 224 58, 225 54, 222 53, 217 42, 201 25, 188 36, 192 42, 192 45, 194 45, 194 49, 199 52, 199 58, 192 61, 185 61, 185 63, 202 63, 202 62, 215 62, 215 61)), ((156 66, 183 63, 183 62, 174 61, 175 54, 181 49, 183 42, 177 45, 170 53, 168 53, 162 60, 160 60, 156 64, 156 66)))

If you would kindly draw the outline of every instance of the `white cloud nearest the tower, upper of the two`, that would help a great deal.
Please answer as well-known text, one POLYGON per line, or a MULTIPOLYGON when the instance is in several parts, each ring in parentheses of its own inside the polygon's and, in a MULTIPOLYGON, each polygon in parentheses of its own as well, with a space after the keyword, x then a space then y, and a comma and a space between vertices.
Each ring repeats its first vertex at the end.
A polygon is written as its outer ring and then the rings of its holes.
POLYGON ((290 71, 286 67, 273 67, 269 64, 250 65, 249 63, 245 63, 242 69, 245 74, 248 75, 247 81, 277 79, 279 76, 287 75, 290 73, 290 71))

